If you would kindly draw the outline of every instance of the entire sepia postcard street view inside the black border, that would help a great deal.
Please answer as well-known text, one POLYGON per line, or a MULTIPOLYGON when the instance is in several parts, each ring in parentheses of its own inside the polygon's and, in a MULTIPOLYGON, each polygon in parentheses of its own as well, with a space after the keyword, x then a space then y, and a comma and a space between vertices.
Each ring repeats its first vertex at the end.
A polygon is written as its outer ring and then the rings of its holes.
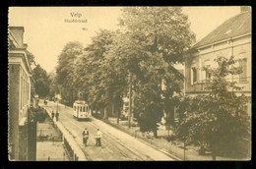
POLYGON ((250 161, 251 11, 9 7, 9 161, 250 161))

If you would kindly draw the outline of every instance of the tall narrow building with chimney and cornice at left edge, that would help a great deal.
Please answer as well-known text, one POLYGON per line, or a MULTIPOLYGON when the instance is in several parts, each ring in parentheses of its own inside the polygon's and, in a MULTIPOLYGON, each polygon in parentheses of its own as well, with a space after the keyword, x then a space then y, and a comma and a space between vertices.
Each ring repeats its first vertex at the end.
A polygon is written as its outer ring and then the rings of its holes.
POLYGON ((8 28, 8 150, 9 160, 28 160, 28 110, 32 69, 24 44, 24 28, 8 28))

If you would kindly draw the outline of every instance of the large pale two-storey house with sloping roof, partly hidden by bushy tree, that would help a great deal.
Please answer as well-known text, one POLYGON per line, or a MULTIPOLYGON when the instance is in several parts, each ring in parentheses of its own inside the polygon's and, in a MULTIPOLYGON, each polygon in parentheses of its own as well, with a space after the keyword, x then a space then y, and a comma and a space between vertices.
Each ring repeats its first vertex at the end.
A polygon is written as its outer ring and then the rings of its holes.
MULTIPOLYGON (((194 44, 185 56, 185 93, 189 96, 208 93, 206 80, 211 79, 211 73, 202 68, 215 69, 218 63, 214 60, 220 56, 234 60, 235 66, 242 67, 240 75, 229 75, 226 79, 244 86, 237 94, 245 94, 251 98, 251 10, 241 7, 240 14, 228 19, 220 27, 214 29, 202 40, 194 44)), ((249 101, 251 102, 251 101, 249 101)), ((251 103, 244 109, 251 114, 251 103)))

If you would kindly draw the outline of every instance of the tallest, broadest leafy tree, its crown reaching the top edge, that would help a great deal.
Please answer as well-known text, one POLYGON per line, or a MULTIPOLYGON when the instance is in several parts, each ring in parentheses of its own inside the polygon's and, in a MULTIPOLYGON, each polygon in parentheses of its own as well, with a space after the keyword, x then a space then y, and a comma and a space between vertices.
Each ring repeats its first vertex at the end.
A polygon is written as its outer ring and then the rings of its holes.
MULTIPOLYGON (((116 69, 124 70, 128 84, 137 86, 133 90, 134 113, 140 115, 141 131, 153 131, 157 137, 156 123, 163 114, 162 105, 171 102, 174 92, 180 92, 177 82, 183 80, 174 65, 183 62, 182 54, 195 35, 179 7, 127 7, 122 11, 122 33, 106 55, 115 61, 116 69), (166 90, 160 88, 162 80, 167 84, 166 90)), ((169 107, 164 109, 169 113, 169 107)))

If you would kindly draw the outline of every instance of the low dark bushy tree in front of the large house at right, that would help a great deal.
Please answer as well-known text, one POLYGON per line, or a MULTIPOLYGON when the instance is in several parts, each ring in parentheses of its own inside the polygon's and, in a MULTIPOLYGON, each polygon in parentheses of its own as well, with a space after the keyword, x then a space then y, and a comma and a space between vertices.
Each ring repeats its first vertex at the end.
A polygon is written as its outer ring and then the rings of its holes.
POLYGON ((243 106, 248 102, 244 95, 236 92, 242 87, 226 79, 228 75, 239 75, 240 67, 234 67, 233 60, 219 57, 219 68, 208 70, 213 79, 209 80, 211 91, 207 95, 197 95, 181 102, 180 113, 184 118, 180 122, 177 135, 189 141, 198 141, 201 146, 209 145, 216 154, 224 154, 248 159, 250 151, 250 118, 243 106), (240 156, 238 156, 240 155, 240 156))

